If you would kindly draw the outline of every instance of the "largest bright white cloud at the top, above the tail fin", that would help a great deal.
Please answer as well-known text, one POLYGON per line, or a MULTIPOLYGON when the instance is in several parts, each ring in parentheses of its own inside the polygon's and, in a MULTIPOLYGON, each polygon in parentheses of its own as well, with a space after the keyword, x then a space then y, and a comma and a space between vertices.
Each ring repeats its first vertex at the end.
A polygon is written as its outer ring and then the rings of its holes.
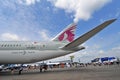
POLYGON ((48 0, 68 13, 74 13, 74 22, 88 20, 92 14, 112 0, 48 0))

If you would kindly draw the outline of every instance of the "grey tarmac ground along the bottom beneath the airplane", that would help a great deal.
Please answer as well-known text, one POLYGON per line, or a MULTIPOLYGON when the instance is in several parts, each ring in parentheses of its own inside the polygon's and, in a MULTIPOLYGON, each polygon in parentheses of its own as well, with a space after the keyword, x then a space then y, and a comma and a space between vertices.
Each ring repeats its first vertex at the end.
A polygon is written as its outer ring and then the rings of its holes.
POLYGON ((21 75, 0 72, 0 80, 120 80, 120 65, 54 68, 45 72, 37 69, 21 75))

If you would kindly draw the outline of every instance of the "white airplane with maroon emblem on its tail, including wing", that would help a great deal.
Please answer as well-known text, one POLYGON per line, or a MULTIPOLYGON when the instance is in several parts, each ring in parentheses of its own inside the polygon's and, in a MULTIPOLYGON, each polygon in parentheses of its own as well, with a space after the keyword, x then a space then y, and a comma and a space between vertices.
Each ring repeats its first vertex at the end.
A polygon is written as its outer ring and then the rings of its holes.
POLYGON ((73 23, 49 42, 0 41, 0 64, 33 63, 85 49, 80 45, 115 20, 105 21, 75 40, 76 24, 73 23))

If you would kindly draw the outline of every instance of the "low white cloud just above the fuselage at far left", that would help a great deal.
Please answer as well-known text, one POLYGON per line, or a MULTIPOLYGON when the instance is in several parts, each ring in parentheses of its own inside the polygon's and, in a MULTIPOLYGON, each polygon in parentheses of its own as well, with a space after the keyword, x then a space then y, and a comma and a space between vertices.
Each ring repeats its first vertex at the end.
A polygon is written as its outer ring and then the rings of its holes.
POLYGON ((27 38, 20 38, 17 34, 11 34, 11 33, 3 33, 0 36, 1 40, 5 41, 20 41, 20 40, 27 40, 27 38))

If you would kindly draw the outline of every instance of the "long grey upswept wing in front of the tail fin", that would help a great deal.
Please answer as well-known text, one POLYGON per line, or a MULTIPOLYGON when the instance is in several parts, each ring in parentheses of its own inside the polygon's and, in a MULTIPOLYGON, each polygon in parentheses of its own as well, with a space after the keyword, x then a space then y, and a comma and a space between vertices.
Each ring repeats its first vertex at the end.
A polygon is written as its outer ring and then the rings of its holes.
POLYGON ((81 45, 82 43, 84 43, 85 41, 90 39, 92 36, 94 36, 95 34, 100 32, 101 30, 103 30, 109 24, 113 23, 115 20, 116 19, 111 19, 111 20, 105 21, 104 23, 98 25, 97 27, 90 30, 89 32, 87 32, 87 33, 83 34, 82 36, 78 37, 77 39, 75 39, 71 43, 65 45, 62 49, 72 49, 72 48, 78 47, 79 45, 81 45))

